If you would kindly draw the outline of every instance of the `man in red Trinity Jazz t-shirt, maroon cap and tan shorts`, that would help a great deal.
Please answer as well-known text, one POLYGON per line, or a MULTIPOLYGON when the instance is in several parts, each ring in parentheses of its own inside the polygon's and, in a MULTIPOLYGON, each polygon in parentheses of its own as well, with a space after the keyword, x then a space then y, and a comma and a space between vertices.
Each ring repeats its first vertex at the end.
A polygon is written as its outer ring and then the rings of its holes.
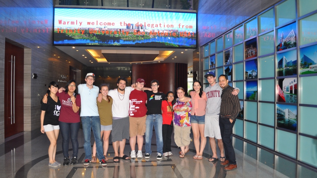
POLYGON ((130 146, 131 146, 131 158, 142 158, 142 146, 143 136, 146 130, 146 93, 142 91, 145 81, 144 79, 137 79, 136 88, 130 93, 130 109, 129 109, 129 121, 130 121, 130 146), (135 143, 138 138, 138 153, 135 155, 135 143))

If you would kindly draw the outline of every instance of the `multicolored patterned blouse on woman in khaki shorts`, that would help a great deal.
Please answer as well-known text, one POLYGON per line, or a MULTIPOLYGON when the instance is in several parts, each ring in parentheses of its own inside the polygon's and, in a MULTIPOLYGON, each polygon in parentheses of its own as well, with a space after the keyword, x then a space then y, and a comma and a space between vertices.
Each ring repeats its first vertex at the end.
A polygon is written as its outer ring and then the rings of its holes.
POLYGON ((191 126, 191 99, 185 102, 178 101, 173 105, 174 119, 173 123, 180 127, 191 126))

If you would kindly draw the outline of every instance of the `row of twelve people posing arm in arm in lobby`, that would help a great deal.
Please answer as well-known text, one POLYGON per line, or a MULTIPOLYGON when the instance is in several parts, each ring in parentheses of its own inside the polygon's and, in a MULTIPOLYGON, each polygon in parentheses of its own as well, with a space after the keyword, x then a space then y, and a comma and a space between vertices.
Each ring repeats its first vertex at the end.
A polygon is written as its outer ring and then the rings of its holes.
POLYGON ((73 145, 71 165, 77 163, 77 135, 81 117, 85 140, 84 165, 97 162, 97 158, 101 165, 107 165, 110 132, 114 149, 113 162, 118 163, 120 159, 142 158, 144 135, 145 158, 150 158, 154 126, 156 159, 160 160, 163 156, 173 155, 171 152, 173 129, 175 143, 181 148, 179 157, 183 158, 189 151, 192 129, 196 149, 193 159, 203 159, 206 137, 209 137, 213 152, 209 161, 219 160, 216 152, 216 138, 221 152, 221 165, 227 165, 225 170, 235 169, 235 153, 230 135, 240 110, 237 97, 239 90, 228 85, 226 75, 219 76, 219 83, 216 83, 215 74, 212 72, 208 72, 205 78, 210 84, 205 92, 202 91, 200 81, 195 80, 193 81, 194 91, 189 93, 191 98, 186 97, 184 88, 179 87, 176 91, 177 99, 172 91, 167 92, 166 95, 159 92, 157 80, 151 81, 151 88, 144 87, 146 83, 142 78, 137 79, 136 83, 129 87, 126 86, 127 80, 120 77, 117 80, 118 88, 114 90, 109 90, 107 84, 101 84, 100 88, 94 86, 93 73, 86 75, 86 84, 78 86, 76 81, 70 80, 65 88, 58 89, 58 84, 51 82, 41 107, 41 131, 45 132, 50 140, 49 166, 61 165, 55 161, 59 129, 63 139, 63 165, 69 164, 69 137, 73 145), (90 143, 91 128, 95 139, 93 153, 90 143), (103 145, 101 137, 103 137, 103 145), (126 139, 130 142, 130 157, 124 154, 126 139), (138 150, 135 149, 136 143, 138 150))

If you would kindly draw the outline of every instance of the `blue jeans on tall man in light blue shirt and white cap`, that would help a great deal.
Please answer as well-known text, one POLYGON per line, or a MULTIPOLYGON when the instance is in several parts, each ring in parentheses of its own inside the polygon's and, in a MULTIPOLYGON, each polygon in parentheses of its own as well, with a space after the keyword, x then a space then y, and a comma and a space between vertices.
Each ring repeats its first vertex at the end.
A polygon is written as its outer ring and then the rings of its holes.
POLYGON ((96 142, 96 151, 99 160, 105 159, 103 156, 102 142, 100 138, 100 118, 99 116, 83 116, 81 117, 82 130, 84 132, 84 149, 85 159, 91 160, 91 143, 90 134, 91 128, 93 128, 94 138, 96 142))

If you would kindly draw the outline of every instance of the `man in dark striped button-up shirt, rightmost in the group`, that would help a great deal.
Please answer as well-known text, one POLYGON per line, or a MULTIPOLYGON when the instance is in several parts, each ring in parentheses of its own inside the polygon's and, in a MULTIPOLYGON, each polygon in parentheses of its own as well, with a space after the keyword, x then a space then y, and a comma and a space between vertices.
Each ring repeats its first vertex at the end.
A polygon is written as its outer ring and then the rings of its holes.
POLYGON ((236 154, 232 146, 231 134, 233 125, 236 122, 236 116, 240 111, 240 102, 237 95, 232 95, 233 87, 228 85, 228 76, 220 75, 219 85, 223 89, 221 94, 219 126, 220 133, 223 140, 223 147, 226 156, 224 170, 236 169, 236 154))

